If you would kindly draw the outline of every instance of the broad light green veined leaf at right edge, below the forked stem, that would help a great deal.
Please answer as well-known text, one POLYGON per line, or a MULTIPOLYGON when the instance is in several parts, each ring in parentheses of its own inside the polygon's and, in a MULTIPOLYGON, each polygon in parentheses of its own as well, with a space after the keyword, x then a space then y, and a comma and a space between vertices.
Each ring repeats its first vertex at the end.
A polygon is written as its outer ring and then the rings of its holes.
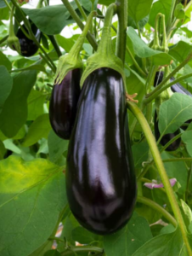
POLYGON ((172 133, 189 119, 192 119, 192 97, 174 93, 160 106, 159 130, 161 134, 172 133))

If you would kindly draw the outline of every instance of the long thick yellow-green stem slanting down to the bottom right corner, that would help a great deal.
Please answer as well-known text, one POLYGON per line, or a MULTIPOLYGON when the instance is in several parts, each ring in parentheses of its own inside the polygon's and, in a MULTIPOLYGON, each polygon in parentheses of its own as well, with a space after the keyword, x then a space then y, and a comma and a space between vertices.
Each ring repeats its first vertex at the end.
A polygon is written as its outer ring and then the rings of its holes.
POLYGON ((145 135, 146 140, 147 140, 147 142, 150 146, 150 151, 151 151, 151 154, 154 158, 156 168, 157 168, 157 170, 160 174, 161 181, 164 185, 164 188, 166 189, 167 197, 168 197, 169 202, 172 206, 172 212, 174 213, 174 216, 178 221, 178 226, 181 230, 181 234, 182 234, 183 239, 184 239, 184 244, 186 245, 188 253, 191 256, 192 251, 191 251, 191 247, 189 245, 188 236, 187 236, 187 229, 186 229, 185 224, 184 224, 184 219, 183 219, 182 214, 180 212, 180 209, 178 207, 178 202, 175 198, 174 192, 172 190, 172 186, 171 186, 171 184, 169 182, 169 179, 167 177, 167 172, 166 172, 165 167, 163 165, 163 162, 161 160, 161 154, 160 154, 160 152, 159 152, 159 150, 156 146, 155 137, 153 136, 153 133, 150 130, 150 126, 148 125, 148 122, 144 118, 144 114, 140 111, 138 106, 136 104, 134 104, 133 102, 127 102, 127 106, 131 110, 131 112, 135 115, 135 117, 138 119, 138 122, 139 122, 139 124, 141 125, 141 127, 144 131, 144 135, 145 135))

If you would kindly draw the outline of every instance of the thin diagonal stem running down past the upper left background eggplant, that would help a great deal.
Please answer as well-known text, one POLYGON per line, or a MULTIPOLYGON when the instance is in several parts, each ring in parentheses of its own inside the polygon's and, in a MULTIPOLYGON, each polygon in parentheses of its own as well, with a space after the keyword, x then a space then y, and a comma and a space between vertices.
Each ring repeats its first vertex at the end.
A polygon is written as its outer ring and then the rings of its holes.
MULTIPOLYGON (((20 6, 15 2, 15 0, 11 0, 11 2, 13 3, 13 5, 20 11, 20 15, 22 16, 25 26, 27 28, 27 30, 30 33, 31 39, 35 42, 35 44, 37 44, 37 46, 42 50, 43 54, 46 56, 46 58, 48 59, 48 61, 50 62, 51 65, 51 69, 53 70, 53 72, 56 72, 56 67, 54 65, 54 62, 51 60, 51 58, 48 56, 47 52, 42 48, 42 45, 39 44, 39 42, 37 41, 37 38, 35 37, 35 35, 33 34, 33 32, 31 31, 31 26, 29 23, 29 20, 26 19, 25 14, 23 13, 23 10, 20 9, 20 6)), ((48 63, 48 61, 46 60, 46 62, 48 63)))

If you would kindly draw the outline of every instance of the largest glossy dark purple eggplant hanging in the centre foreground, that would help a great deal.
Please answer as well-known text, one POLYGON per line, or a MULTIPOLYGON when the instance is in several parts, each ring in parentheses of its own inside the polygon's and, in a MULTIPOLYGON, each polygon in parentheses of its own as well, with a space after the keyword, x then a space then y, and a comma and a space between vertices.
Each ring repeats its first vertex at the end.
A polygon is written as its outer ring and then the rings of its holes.
POLYGON ((121 74, 90 73, 77 106, 66 163, 71 212, 82 226, 107 235, 131 218, 137 183, 121 74))

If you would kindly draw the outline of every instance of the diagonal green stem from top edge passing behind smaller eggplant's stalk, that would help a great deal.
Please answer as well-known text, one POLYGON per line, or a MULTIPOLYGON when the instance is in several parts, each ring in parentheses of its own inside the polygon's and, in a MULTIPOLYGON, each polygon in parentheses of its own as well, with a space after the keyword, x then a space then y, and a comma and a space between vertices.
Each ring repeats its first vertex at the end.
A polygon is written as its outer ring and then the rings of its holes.
MULTIPOLYGON (((68 9, 68 11, 71 14, 71 17, 73 18, 73 20, 76 21, 76 24, 83 31, 84 25, 82 23, 82 20, 80 20, 79 16, 76 14, 76 11, 72 8, 71 3, 68 0, 61 0, 61 1, 64 3, 66 9, 68 9)), ((93 49, 97 50, 98 44, 97 44, 95 38, 93 38, 93 35, 90 32, 88 32, 87 38, 88 38, 88 42, 92 45, 93 49)))

